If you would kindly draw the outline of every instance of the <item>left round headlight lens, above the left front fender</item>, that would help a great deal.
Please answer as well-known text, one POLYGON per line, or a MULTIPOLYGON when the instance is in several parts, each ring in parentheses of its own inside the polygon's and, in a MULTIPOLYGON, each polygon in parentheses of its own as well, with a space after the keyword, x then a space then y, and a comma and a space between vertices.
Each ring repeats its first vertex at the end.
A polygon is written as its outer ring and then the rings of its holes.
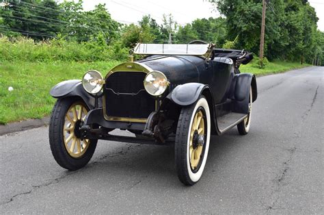
POLYGON ((85 91, 96 94, 103 88, 103 76, 95 70, 87 71, 82 79, 82 86, 85 91))

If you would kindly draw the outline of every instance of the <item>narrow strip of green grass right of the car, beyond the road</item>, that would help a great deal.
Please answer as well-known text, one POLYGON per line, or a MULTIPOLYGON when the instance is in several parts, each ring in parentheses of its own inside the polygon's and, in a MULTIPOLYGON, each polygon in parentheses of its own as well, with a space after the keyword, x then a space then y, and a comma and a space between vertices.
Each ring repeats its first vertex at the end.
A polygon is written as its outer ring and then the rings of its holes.
POLYGON ((269 62, 265 68, 257 68, 254 62, 241 65, 240 71, 241 73, 253 73, 256 76, 283 73, 285 71, 290 71, 296 68, 303 68, 306 66, 311 66, 310 64, 300 64, 299 62, 283 62, 283 61, 275 61, 269 62))

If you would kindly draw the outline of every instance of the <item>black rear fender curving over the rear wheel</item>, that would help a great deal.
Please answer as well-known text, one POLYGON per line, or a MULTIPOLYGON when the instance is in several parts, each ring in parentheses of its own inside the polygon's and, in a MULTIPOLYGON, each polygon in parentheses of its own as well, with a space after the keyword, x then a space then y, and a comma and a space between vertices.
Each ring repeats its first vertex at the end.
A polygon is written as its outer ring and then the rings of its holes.
POLYGON ((256 76, 250 73, 240 73, 234 76, 234 92, 233 99, 234 112, 248 114, 249 113, 249 88, 252 87, 252 102, 258 97, 256 86, 256 76))

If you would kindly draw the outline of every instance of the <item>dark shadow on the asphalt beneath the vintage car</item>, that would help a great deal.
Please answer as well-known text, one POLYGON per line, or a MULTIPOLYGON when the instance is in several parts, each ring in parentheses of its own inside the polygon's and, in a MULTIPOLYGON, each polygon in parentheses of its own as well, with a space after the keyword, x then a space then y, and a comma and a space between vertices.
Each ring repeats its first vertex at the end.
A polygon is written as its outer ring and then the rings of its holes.
MULTIPOLYGON (((226 154, 236 144, 235 140, 238 136, 234 129, 224 136, 211 136, 208 160, 202 179, 204 176, 208 177, 214 169, 219 167, 217 166, 219 160, 226 157, 226 154)), ((109 180, 112 186, 117 183, 116 181, 132 184, 134 181, 144 180, 147 186, 148 181, 154 181, 152 186, 160 184, 161 187, 166 181, 167 186, 170 184, 179 186, 180 184, 174 164, 174 146, 120 143, 120 147, 106 150, 102 152, 101 157, 97 157, 78 172, 82 175, 89 175, 89 177, 96 175, 98 178, 109 180)))

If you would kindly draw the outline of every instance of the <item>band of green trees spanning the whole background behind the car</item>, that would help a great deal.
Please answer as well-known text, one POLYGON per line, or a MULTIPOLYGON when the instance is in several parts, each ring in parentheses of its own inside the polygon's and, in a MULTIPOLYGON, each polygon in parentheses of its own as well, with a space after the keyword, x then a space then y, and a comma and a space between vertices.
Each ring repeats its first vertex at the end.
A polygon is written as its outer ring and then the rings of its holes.
MULTIPOLYGON (((66 40, 91 50, 111 49, 124 56, 137 42, 213 42, 217 47, 258 53, 262 0, 210 0, 222 14, 178 25, 164 14, 161 25, 150 15, 130 25, 111 18, 105 4, 84 11, 83 1, 0 0, 0 36, 66 40)), ((323 62, 324 33, 317 29, 314 8, 306 0, 268 0, 265 56, 317 64, 323 62)))

